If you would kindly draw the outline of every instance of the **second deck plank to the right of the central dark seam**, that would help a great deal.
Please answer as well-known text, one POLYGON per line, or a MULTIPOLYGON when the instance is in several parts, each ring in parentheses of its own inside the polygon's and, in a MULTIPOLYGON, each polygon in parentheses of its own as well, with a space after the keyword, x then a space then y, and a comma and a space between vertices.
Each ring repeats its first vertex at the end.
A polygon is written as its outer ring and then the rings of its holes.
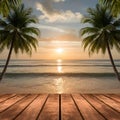
POLYGON ((80 94, 74 94, 73 98, 85 120, 96 120, 96 118, 97 120, 105 120, 80 94))

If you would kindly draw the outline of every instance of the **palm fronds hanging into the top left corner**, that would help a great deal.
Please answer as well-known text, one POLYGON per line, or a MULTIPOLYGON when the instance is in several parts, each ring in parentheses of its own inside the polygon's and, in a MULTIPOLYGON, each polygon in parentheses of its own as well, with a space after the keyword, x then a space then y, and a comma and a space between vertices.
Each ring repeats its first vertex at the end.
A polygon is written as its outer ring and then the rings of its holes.
POLYGON ((13 6, 18 6, 21 0, 0 0, 0 14, 7 16, 10 8, 13 6))

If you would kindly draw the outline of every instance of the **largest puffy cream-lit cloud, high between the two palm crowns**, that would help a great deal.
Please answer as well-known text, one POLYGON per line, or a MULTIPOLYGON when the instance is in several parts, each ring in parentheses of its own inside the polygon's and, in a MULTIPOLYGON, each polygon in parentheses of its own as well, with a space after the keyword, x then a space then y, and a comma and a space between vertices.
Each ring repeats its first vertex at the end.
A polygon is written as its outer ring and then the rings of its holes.
POLYGON ((44 0, 36 3, 37 10, 42 12, 39 19, 46 22, 78 22, 83 17, 80 12, 55 9, 53 7, 55 2, 64 2, 64 0, 44 0))

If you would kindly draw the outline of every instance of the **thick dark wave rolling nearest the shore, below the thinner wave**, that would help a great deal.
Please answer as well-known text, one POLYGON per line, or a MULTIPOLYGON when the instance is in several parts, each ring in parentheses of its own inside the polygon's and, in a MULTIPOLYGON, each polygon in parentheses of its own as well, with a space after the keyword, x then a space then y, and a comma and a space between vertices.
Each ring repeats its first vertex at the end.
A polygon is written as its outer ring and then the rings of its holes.
POLYGON ((113 77, 114 73, 6 73, 7 77, 48 77, 48 76, 66 76, 66 77, 113 77))

